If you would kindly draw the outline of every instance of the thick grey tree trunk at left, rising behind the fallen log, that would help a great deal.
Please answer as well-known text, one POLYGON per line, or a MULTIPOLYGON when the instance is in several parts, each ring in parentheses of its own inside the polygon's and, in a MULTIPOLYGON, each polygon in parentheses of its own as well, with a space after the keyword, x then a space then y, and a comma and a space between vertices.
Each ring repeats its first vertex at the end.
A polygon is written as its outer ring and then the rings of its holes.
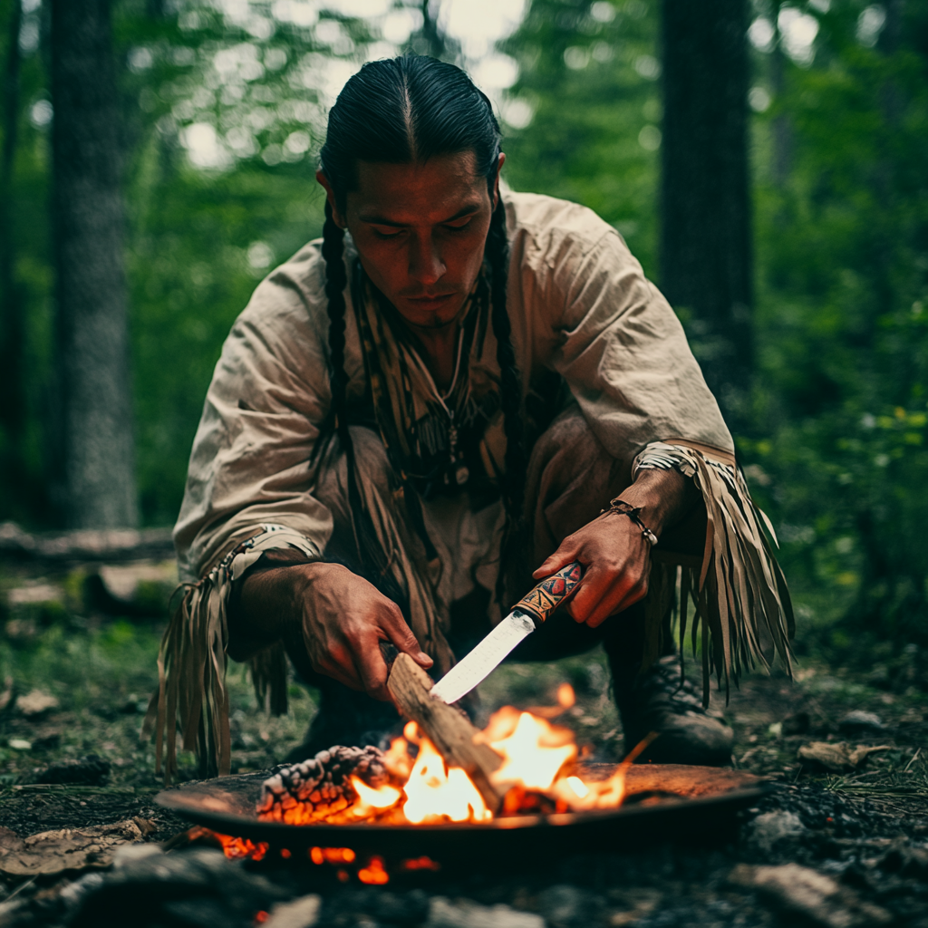
POLYGON ((110 0, 52 0, 60 478, 71 528, 134 525, 122 146, 110 0))

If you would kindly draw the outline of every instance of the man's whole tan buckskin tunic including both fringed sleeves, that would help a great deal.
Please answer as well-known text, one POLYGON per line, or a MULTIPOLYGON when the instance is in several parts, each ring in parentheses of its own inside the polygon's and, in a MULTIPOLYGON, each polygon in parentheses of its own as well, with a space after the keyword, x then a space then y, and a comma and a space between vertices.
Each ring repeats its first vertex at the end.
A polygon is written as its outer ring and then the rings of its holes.
MULTIPOLYGON (((693 621, 702 621, 706 679, 710 669, 728 679, 755 657, 766 662, 762 641, 789 664, 792 613, 760 527, 766 517, 751 503, 728 428, 677 316, 625 241, 595 213, 534 194, 507 192, 504 202, 507 310, 530 434, 573 406, 612 458, 636 459, 634 472, 676 467, 691 477, 708 514, 704 556, 654 561, 649 598, 663 598, 654 614, 677 585, 682 599, 691 597, 693 621)), ((407 600, 407 621, 445 670, 454 659, 445 640, 450 603, 475 583, 495 588, 506 527, 493 492, 505 437, 488 288, 478 281, 455 380, 442 394, 392 317, 395 310, 364 279, 350 240, 345 261, 349 406, 371 430, 367 435, 379 430, 394 469, 432 469, 393 475, 382 490, 383 481, 366 470, 372 456, 359 452, 358 483, 407 600), (436 468, 443 459, 450 467, 436 468), (449 475, 450 486, 443 485, 449 475), (456 492, 462 477, 466 485, 456 492), (418 534, 407 524, 404 491, 417 497, 418 534)), ((317 240, 262 281, 216 365, 174 529, 187 588, 162 643, 161 686, 148 717, 159 758, 166 732, 168 775, 174 720, 187 749, 197 749, 213 771, 228 771, 224 677, 233 581, 270 549, 291 549, 302 560, 326 556, 333 514, 320 488, 334 465, 319 445, 329 421, 328 332, 317 240)), ((493 604, 497 619, 499 605, 493 604)), ((685 620, 685 606, 683 614, 685 620)), ((259 655, 252 672, 279 689, 282 651, 259 655)))

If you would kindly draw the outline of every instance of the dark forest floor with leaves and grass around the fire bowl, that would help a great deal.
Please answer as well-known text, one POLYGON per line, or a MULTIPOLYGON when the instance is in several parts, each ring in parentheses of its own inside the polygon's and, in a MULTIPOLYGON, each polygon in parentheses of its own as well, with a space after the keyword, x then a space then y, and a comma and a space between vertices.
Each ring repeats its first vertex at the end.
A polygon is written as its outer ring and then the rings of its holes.
MULTIPOLYGON (((161 576, 156 568, 140 572, 148 580, 136 583, 136 599, 170 586, 170 569, 161 576)), ((152 745, 139 737, 157 685, 163 619, 95 611, 84 595, 87 576, 0 568, 0 926, 656 928, 776 926, 801 917, 828 928, 928 928, 928 694, 910 681, 877 688, 820 659, 801 661, 793 680, 779 671, 744 677, 727 706, 724 693, 714 693, 736 733, 735 766, 779 788, 740 813, 737 831, 706 834, 702 843, 655 840, 605 855, 548 846, 544 862, 475 863, 383 888, 354 878, 341 884, 312 868, 226 861, 195 845, 162 853, 158 843, 188 827, 154 803, 161 780, 152 745), (844 769, 800 760, 800 749, 821 754, 822 743, 844 751, 844 769), (861 747, 879 750, 855 752, 861 747), (67 779, 60 771, 75 767, 85 771, 82 785, 40 782, 67 779), (10 848, 39 832, 116 823, 151 855, 118 856, 115 870, 111 854, 78 855, 32 876, 4 863, 10 848), (287 921, 281 907, 297 896, 303 916, 292 909, 287 921)), ((288 715, 271 718, 242 667, 232 665, 229 681, 233 772, 273 766, 303 740, 313 691, 292 682, 288 715)), ((481 689, 483 711, 553 704, 565 681, 577 702, 561 722, 589 759, 621 759, 599 652, 503 666, 481 689)), ((182 755, 180 779, 195 775, 192 757, 182 755)))

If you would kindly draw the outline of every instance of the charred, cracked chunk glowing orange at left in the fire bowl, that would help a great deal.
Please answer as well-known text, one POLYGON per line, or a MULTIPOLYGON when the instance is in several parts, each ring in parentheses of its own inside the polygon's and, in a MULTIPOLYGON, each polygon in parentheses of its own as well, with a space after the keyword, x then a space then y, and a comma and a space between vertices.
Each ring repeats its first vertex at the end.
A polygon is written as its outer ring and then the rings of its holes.
POLYGON ((281 765, 261 786, 258 817, 307 825, 336 815, 354 805, 353 776, 373 789, 387 783, 390 774, 383 766, 383 752, 371 745, 340 744, 300 764, 281 765))

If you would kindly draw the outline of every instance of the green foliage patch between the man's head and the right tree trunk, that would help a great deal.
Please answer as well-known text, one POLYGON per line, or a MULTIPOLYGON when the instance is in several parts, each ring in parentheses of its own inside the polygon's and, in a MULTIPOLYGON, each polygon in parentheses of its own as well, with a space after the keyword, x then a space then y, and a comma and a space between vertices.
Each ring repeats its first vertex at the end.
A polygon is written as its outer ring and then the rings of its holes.
POLYGON ((658 8, 534 0, 503 48, 520 65, 504 116, 534 113, 507 133, 506 176, 519 190, 584 203, 656 273, 661 99, 658 8), (517 110, 518 111, 518 110, 517 110))

